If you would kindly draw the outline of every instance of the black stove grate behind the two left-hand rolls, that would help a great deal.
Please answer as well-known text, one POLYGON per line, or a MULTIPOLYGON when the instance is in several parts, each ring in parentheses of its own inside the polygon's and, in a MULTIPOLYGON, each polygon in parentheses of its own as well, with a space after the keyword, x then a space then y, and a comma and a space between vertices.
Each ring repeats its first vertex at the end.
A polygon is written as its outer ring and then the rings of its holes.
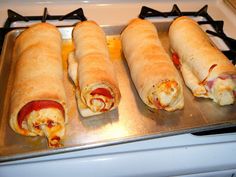
MULTIPOLYGON (((36 20, 41 21, 41 22, 46 22, 47 20, 62 21, 62 20, 66 20, 66 19, 80 20, 80 21, 87 20, 82 8, 78 8, 66 15, 50 15, 48 13, 47 8, 44 8, 42 16, 22 16, 11 9, 8 9, 7 14, 8 14, 8 18, 4 24, 4 27, 0 28, 0 51, 2 50, 2 45, 4 42, 5 35, 9 31, 16 29, 15 27, 11 27, 11 25, 14 22, 19 22, 19 21, 30 22, 30 21, 36 21, 36 20)), ((20 28, 20 27, 17 27, 17 28, 20 28)))

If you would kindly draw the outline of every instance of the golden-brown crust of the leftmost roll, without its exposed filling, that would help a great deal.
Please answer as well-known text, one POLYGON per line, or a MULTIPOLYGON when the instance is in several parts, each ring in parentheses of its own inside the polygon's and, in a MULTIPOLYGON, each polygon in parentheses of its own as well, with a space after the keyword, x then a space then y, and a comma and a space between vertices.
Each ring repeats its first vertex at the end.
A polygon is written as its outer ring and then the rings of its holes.
MULTIPOLYGON (((10 125, 23 135, 35 133, 21 129, 17 116, 21 108, 37 100, 54 100, 67 113, 61 61, 61 35, 56 27, 40 23, 29 27, 17 37, 13 66, 15 79, 11 92, 10 125)), ((67 114, 65 114, 65 122, 67 114)))

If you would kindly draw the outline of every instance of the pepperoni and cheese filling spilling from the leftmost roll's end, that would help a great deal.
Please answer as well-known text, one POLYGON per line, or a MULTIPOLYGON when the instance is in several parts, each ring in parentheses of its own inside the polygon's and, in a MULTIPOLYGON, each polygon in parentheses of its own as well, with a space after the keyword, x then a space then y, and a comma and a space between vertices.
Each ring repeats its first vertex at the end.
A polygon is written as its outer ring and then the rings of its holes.
POLYGON ((49 147, 61 146, 64 136, 64 108, 51 100, 38 100, 26 104, 18 113, 18 125, 21 129, 35 135, 46 136, 49 147))

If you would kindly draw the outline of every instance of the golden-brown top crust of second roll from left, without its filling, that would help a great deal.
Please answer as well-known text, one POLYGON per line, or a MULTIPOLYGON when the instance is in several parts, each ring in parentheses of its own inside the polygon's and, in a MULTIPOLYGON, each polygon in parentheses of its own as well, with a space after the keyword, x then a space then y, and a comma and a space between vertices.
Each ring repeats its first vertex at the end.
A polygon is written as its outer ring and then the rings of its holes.
POLYGON ((89 88, 106 85, 113 93, 116 107, 121 95, 114 67, 109 58, 105 33, 95 22, 84 21, 73 29, 73 41, 78 63, 78 89, 81 90, 82 100, 89 88))

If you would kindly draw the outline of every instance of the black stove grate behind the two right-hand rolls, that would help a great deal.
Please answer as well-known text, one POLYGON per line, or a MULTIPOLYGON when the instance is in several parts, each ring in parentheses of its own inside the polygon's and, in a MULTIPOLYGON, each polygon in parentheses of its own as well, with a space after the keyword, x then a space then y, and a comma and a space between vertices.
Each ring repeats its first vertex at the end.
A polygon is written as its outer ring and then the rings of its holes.
POLYGON ((207 13, 208 5, 203 6, 200 10, 196 12, 190 11, 181 11, 179 7, 174 4, 173 8, 169 12, 160 12, 158 10, 143 6, 139 18, 145 19, 147 17, 178 17, 178 16, 194 16, 194 17, 204 17, 206 21, 198 21, 198 24, 210 24, 213 29, 216 31, 206 30, 206 33, 217 36, 221 38, 224 43, 227 45, 229 50, 222 51, 232 62, 236 64, 236 40, 228 37, 223 30, 224 22, 223 21, 216 21, 214 20, 208 13, 207 13))

